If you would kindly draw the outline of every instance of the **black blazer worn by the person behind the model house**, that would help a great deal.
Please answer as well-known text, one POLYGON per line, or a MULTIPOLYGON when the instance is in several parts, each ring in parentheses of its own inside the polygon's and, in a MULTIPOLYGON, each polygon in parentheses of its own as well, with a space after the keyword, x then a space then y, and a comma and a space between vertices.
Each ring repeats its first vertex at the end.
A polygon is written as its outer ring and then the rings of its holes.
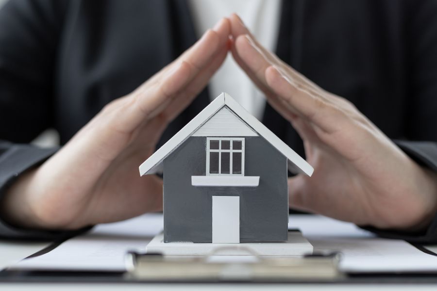
MULTIPOLYGON (((436 16, 436 0, 284 0, 276 53, 351 100, 437 171, 436 16)), ((0 194, 53 153, 26 145, 40 132, 55 128, 66 143, 106 103, 133 91, 195 40, 185 0, 7 3, 0 10, 0 194)), ((158 146, 208 103, 205 89, 158 146)), ((304 155, 298 134, 269 105, 263 122, 304 155)), ((430 233, 410 239, 436 240, 430 233)), ((0 222, 0 235, 48 233, 0 222)))

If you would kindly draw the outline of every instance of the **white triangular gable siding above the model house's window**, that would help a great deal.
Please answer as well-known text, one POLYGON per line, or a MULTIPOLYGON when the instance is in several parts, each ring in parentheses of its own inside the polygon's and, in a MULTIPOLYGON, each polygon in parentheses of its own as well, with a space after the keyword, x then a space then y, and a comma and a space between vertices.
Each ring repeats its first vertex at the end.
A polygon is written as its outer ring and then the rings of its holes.
POLYGON ((258 134, 224 106, 191 136, 258 136, 258 134))

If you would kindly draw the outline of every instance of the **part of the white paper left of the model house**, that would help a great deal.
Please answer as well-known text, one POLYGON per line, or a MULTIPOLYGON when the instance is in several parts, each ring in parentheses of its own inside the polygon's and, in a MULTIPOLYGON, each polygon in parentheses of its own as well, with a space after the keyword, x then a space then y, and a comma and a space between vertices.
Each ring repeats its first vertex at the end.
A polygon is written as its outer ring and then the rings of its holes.
POLYGON ((144 252, 163 229, 162 214, 146 214, 126 221, 95 226, 39 257, 24 259, 10 269, 125 271, 128 250, 144 252))

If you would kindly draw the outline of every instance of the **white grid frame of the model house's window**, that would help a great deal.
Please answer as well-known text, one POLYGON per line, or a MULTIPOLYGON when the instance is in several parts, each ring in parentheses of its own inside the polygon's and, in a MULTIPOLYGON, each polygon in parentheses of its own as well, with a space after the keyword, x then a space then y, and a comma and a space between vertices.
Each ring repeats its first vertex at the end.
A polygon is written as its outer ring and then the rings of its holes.
POLYGON ((244 176, 244 137, 207 137, 206 138, 206 176, 244 176), (218 140, 218 149, 210 149, 209 142, 218 140), (221 149, 221 141, 230 141, 229 149, 221 149), (233 141, 241 141, 241 149, 233 149, 233 141), (218 152, 218 174, 209 173, 209 153, 218 152), (230 156, 230 174, 221 174, 221 153, 228 152, 230 156), (241 174, 232 174, 232 153, 241 153, 241 174))

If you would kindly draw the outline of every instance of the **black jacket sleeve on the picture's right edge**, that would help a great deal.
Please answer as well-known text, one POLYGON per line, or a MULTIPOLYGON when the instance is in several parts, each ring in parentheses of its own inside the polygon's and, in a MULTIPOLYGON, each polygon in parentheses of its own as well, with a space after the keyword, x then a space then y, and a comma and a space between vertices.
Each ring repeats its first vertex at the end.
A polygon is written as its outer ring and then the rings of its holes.
MULTIPOLYGON (((408 35, 411 98, 405 120, 406 139, 395 143, 414 161, 437 173, 437 1, 409 3, 405 32, 408 35)), ((365 228, 383 237, 435 243, 437 213, 428 228, 418 233, 365 228)))

